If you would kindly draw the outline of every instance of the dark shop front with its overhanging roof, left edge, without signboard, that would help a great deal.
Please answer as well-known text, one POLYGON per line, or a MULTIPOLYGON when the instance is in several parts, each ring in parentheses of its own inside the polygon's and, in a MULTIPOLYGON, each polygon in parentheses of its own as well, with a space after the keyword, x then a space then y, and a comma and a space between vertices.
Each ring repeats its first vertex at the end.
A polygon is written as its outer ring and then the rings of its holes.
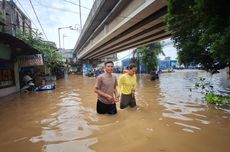
POLYGON ((20 91, 18 57, 38 53, 20 39, 0 32, 0 97, 20 91))

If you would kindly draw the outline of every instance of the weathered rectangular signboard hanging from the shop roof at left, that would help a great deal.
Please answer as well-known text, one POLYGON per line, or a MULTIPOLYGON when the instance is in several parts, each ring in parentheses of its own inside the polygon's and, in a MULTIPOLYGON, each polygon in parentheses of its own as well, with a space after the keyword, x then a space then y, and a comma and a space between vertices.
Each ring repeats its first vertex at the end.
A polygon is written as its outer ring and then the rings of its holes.
POLYGON ((19 56, 18 61, 20 67, 36 66, 36 65, 44 64, 42 59, 42 54, 19 56))

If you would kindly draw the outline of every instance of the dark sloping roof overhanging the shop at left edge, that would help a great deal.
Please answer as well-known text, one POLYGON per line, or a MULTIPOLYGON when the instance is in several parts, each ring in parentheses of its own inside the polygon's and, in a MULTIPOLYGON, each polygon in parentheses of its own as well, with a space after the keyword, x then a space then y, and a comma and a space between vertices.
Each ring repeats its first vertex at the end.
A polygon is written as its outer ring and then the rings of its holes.
POLYGON ((8 34, 0 32, 0 43, 8 44, 11 46, 15 55, 31 55, 40 53, 37 49, 26 44, 24 41, 8 34))

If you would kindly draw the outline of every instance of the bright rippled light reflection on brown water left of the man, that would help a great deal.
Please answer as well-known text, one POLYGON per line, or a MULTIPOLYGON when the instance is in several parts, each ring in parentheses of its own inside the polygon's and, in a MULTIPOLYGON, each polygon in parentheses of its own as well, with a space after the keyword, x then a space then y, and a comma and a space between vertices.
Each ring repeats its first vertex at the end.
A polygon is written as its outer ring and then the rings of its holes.
POLYGON ((44 148, 44 151, 49 152, 60 150, 62 147, 66 149, 66 146, 73 143, 78 149, 90 151, 87 144, 97 142, 96 139, 81 139, 90 136, 97 128, 88 123, 89 119, 95 120, 95 113, 82 106, 77 92, 62 91, 58 100, 56 104, 58 110, 40 122, 43 126, 41 135, 32 137, 30 141, 49 143, 44 148))

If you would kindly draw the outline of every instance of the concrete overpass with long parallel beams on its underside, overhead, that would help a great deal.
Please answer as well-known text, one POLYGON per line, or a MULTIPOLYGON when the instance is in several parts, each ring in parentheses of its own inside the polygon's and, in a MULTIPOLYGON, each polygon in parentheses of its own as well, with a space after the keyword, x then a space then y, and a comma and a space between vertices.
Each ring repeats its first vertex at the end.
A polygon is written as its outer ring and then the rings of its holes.
POLYGON ((170 37, 166 0, 97 0, 74 51, 95 60, 170 37))

